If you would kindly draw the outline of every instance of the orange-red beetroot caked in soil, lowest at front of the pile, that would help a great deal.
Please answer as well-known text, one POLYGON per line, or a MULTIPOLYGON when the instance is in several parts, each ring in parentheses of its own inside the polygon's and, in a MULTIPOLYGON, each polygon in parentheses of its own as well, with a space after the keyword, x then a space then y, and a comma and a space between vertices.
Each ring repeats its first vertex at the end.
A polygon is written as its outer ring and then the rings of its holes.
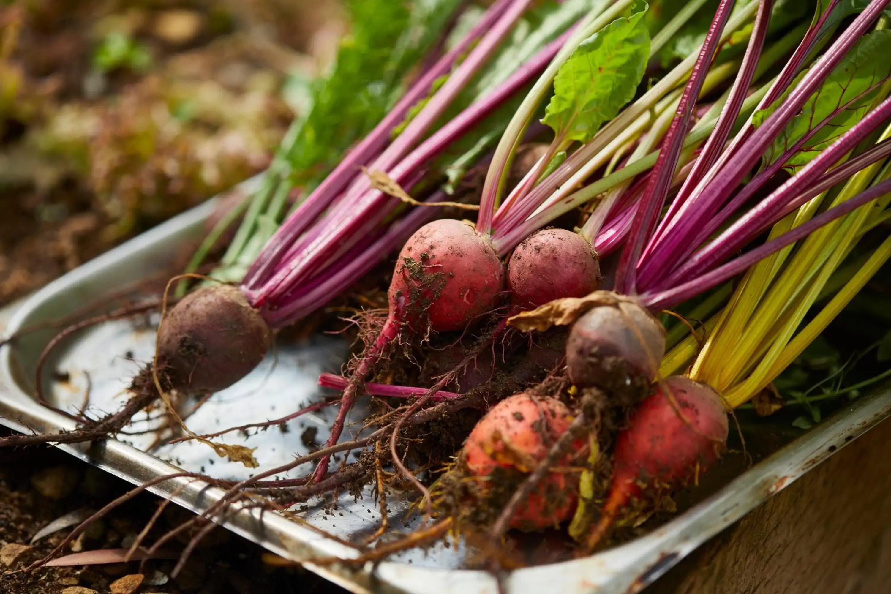
MULTIPOLYGON (((470 432, 462 449, 464 468, 486 490, 488 481, 497 479, 499 468, 531 472, 571 422, 571 411, 556 398, 512 395, 497 403, 470 432)), ((560 466, 571 466, 583 447, 584 440, 579 440, 560 466)), ((576 509, 577 482, 573 474, 545 476, 511 517, 511 528, 541 530, 566 521, 576 509)))

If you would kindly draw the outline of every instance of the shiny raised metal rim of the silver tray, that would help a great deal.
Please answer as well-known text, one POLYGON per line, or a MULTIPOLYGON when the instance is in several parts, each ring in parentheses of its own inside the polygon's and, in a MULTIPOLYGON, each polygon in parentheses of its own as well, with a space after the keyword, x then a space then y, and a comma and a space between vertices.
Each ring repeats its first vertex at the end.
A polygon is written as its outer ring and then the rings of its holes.
MULTIPOLYGON (((256 183, 256 179, 248 183, 256 183)), ((30 315, 37 313, 41 305, 61 291, 100 273, 108 264, 120 262, 200 225, 212 212, 214 204, 215 200, 211 199, 173 217, 82 264, 31 296, 0 309, 0 322, 9 319, 6 328, 0 326, 0 330, 6 333, 19 330, 30 315)), ((12 345, 0 346, 0 424, 20 432, 27 432, 28 427, 42 431, 72 428, 74 424, 70 419, 41 406, 20 387, 15 378, 13 352, 12 345)), ((517 594, 555 587, 578 594, 639 592, 705 541, 888 416, 891 416, 891 388, 864 395, 652 533, 592 557, 517 570, 508 576, 506 585, 509 591, 517 594)), ((179 470, 118 440, 56 444, 56 447, 132 484, 141 484, 146 473, 162 476, 179 470)), ((223 494, 216 487, 203 482, 190 483, 185 477, 170 479, 147 490, 195 513, 207 509, 209 503, 223 494)), ((307 569, 357 594, 390 591, 457 594, 468 589, 482 594, 497 590, 491 574, 476 570, 442 570, 388 561, 365 564, 361 568, 343 564, 315 565, 307 559, 314 556, 355 557, 357 550, 279 515, 241 510, 222 525, 277 555, 303 563, 307 569), (437 588, 431 590, 434 581, 437 588)))

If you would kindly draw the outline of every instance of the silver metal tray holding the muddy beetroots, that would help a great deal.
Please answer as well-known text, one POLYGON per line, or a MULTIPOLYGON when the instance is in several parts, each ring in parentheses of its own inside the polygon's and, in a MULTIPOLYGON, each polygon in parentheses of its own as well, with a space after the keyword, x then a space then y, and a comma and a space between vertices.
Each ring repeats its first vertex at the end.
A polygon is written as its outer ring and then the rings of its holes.
MULTIPOLYGON (((212 208, 211 201, 177 216, 80 266, 29 299, 0 310, 0 330, 5 325, 4 334, 9 334, 40 322, 59 320, 110 291, 151 273, 159 273, 184 241, 200 235, 201 224, 212 208)), ((41 406, 32 397, 31 378, 37 357, 52 336, 51 330, 32 332, 17 340, 14 346, 0 348, 0 423, 5 426, 23 432, 61 431, 73 427, 72 421, 41 406)), ((57 355, 46 365, 47 397, 62 409, 77 409, 89 385, 91 410, 115 410, 139 362, 151 360, 153 340, 152 330, 139 330, 133 321, 108 322, 78 333, 57 349, 57 355), (69 378, 60 382, 58 375, 53 378, 52 370, 64 370, 69 378)), ((198 433, 208 433, 217 428, 274 419, 295 411, 300 403, 317 396, 315 378, 319 371, 336 369, 344 354, 346 346, 330 337, 312 338, 299 346, 281 346, 248 378, 214 395, 189 420, 189 426, 198 433)), ((865 433, 889 413, 891 391, 862 397, 646 536, 593 557, 516 571, 508 578, 506 586, 511 594, 640 591, 704 541, 865 433)), ((315 427, 318 439, 322 441, 327 420, 324 415, 309 416, 290 423, 287 432, 275 429, 249 437, 247 444, 257 447, 255 455, 260 462, 260 468, 253 472, 273 468, 306 452, 299 438, 300 431, 306 427, 315 427)), ((145 428, 150 422, 150 419, 136 419, 133 427, 145 428)), ((122 439, 129 443, 112 440, 59 447, 134 484, 175 473, 180 468, 203 469, 221 478, 247 476, 250 472, 240 465, 218 459, 200 444, 180 443, 149 454, 143 450, 151 443, 151 436, 124 436, 122 439)), ((231 443, 245 443, 238 434, 224 439, 231 443)), ((301 468, 301 471, 305 469, 301 468)), ((216 488, 187 479, 171 479, 150 490, 194 512, 208 509, 222 495, 216 488)), ((360 500, 344 496, 333 511, 325 503, 318 501, 301 511, 302 523, 277 514, 261 516, 256 510, 242 510, 229 517, 225 526, 282 557, 310 560, 307 562, 309 569, 354 592, 495 594, 497 591, 491 575, 462 569, 460 547, 439 546, 426 552, 405 553, 377 566, 368 564, 362 568, 314 566, 311 562, 314 557, 356 556, 356 549, 345 541, 358 541, 377 526, 378 511, 371 496, 360 500), (339 538, 326 536, 314 527, 339 538)), ((402 520, 405 504, 396 502, 390 506, 389 512, 394 520, 402 520)))

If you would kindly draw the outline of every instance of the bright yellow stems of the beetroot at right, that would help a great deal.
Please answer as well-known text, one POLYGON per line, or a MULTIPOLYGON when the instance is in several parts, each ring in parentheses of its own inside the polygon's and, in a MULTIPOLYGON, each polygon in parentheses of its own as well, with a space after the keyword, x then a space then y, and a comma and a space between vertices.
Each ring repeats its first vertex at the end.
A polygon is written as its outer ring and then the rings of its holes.
MULTIPOLYGON (((888 137, 891 126, 881 140, 888 137)), ((891 176, 891 170, 882 166, 877 163, 852 176, 829 206, 841 204, 871 183, 891 176)), ((810 200, 774 225, 771 237, 804 224, 831 194, 826 192, 810 200)), ((769 386, 891 256, 891 240, 887 240, 853 276, 846 273, 849 280, 830 304, 799 330, 805 314, 822 297, 830 278, 857 241, 867 230, 887 220, 888 202, 885 196, 860 207, 749 269, 723 312, 708 321, 707 326, 714 330, 696 356, 690 377, 715 387, 733 407, 769 386)), ((663 374, 682 369, 695 346, 688 338, 666 354, 663 374)))

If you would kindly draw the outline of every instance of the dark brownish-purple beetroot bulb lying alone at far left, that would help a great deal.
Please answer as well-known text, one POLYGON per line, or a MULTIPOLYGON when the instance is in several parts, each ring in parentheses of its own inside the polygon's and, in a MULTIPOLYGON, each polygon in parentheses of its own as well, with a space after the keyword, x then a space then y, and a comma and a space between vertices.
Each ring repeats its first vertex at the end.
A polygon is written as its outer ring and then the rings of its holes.
POLYGON ((185 296, 158 330, 158 368, 168 387, 218 392, 263 361, 271 332, 239 289, 216 285, 185 296))

